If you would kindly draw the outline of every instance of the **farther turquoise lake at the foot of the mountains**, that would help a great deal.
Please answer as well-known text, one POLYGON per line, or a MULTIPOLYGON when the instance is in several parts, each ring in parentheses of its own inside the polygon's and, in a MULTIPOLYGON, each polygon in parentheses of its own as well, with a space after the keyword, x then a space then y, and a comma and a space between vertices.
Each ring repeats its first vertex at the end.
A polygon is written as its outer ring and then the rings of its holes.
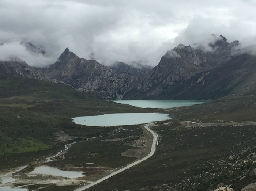
POLYGON ((151 107, 157 109, 169 109, 173 107, 192 106, 205 103, 193 100, 114 100, 113 102, 129 104, 142 108, 151 107))

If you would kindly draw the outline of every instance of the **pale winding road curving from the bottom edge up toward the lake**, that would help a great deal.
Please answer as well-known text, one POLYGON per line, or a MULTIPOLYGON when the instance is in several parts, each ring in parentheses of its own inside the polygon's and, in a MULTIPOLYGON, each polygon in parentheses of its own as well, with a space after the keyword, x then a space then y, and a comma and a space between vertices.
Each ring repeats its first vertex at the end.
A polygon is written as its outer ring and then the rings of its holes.
POLYGON ((148 131, 153 135, 153 142, 152 142, 152 146, 151 146, 151 151, 150 151, 150 153, 149 153, 146 157, 144 157, 144 158, 142 158, 142 159, 140 159, 140 160, 137 160, 137 161, 135 161, 135 162, 133 162, 133 163, 127 165, 126 167, 121 168, 121 169, 119 169, 118 171, 115 171, 115 172, 111 173, 110 175, 105 176, 105 177, 103 177, 102 179, 99 179, 99 180, 97 180, 97 181, 95 181, 95 182, 93 182, 93 183, 91 183, 91 184, 88 184, 88 185, 86 185, 86 186, 82 186, 82 187, 80 187, 80 188, 78 188, 78 189, 75 189, 74 191, 83 191, 83 190, 86 190, 87 188, 90 188, 90 187, 92 187, 92 186, 94 186, 94 185, 96 185, 96 184, 98 184, 98 183, 100 183, 100 182, 102 182, 102 181, 104 181, 104 180, 106 180, 106 179, 108 179, 108 178, 110 178, 110 177, 112 177, 112 176, 114 176, 114 175, 120 173, 120 172, 125 171, 125 170, 128 169, 128 168, 133 167, 133 166, 136 165, 136 164, 141 163, 141 162, 144 161, 144 160, 147 160, 149 157, 151 157, 151 156, 155 153, 155 147, 156 147, 156 145, 157 145, 157 140, 158 140, 158 135, 157 135, 157 133, 155 133, 153 130, 151 130, 151 129, 148 128, 148 126, 153 125, 153 124, 154 124, 154 123, 150 123, 150 124, 145 125, 145 129, 148 130, 148 131))

